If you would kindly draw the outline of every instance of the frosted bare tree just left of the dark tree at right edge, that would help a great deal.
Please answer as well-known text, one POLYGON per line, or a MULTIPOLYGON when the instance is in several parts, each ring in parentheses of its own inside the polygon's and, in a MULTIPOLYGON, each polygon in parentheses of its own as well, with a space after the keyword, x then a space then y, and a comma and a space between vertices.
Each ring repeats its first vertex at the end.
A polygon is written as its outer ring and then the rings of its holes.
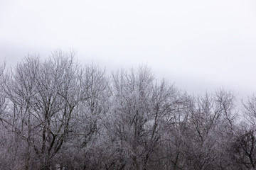
POLYGON ((186 155, 194 169, 223 169, 230 166, 227 136, 233 136, 236 111, 235 96, 227 91, 195 98, 190 108, 188 126, 190 142, 186 155), (225 146, 221 149, 221 146, 225 146), (221 159, 219 159, 221 158, 221 159), (225 158, 225 159, 224 159, 225 158))

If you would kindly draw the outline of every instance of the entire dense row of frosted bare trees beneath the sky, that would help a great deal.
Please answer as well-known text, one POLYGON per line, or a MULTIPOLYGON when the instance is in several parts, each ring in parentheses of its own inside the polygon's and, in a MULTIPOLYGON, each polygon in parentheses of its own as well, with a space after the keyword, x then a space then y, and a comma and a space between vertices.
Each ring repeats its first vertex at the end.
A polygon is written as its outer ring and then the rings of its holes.
POLYGON ((255 169, 256 98, 192 96, 147 67, 28 56, 0 68, 0 169, 255 169), (243 121, 242 121, 243 120, 243 121))

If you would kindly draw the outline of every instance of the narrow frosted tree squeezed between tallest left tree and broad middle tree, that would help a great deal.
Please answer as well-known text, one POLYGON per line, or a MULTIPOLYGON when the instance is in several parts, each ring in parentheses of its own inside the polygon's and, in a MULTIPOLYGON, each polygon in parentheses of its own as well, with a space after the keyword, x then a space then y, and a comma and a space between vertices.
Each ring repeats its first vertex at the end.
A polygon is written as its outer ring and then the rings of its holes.
POLYGON ((75 114, 70 120, 70 136, 60 159, 67 169, 102 169, 106 161, 102 158, 102 150, 106 149, 102 144, 107 138, 105 125, 110 105, 110 84, 105 70, 94 64, 87 65, 84 72, 84 86, 87 86, 89 98, 75 107, 75 114))

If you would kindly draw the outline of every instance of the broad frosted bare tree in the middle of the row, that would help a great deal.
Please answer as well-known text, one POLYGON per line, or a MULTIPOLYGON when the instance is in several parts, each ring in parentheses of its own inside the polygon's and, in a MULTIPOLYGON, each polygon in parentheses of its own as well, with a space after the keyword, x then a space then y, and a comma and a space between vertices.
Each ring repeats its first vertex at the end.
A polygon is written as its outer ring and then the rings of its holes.
POLYGON ((162 131, 178 110, 178 90, 157 83, 147 67, 113 75, 112 142, 119 156, 110 165, 118 169, 154 169, 162 131), (166 123, 166 124, 164 124, 166 123), (119 159, 117 159, 119 158, 119 159))

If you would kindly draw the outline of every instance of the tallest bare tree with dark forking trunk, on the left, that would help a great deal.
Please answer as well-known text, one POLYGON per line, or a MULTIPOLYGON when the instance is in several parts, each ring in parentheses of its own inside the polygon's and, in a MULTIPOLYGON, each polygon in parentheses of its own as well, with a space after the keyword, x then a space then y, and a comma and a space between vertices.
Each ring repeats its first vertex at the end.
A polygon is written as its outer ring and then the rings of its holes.
POLYGON ((45 62, 26 57, 6 81, 4 88, 11 101, 9 125, 27 142, 25 169, 32 161, 31 148, 41 169, 54 166, 53 157, 73 128, 70 123, 76 106, 90 98, 91 84, 73 56, 73 52, 53 52, 45 62))

